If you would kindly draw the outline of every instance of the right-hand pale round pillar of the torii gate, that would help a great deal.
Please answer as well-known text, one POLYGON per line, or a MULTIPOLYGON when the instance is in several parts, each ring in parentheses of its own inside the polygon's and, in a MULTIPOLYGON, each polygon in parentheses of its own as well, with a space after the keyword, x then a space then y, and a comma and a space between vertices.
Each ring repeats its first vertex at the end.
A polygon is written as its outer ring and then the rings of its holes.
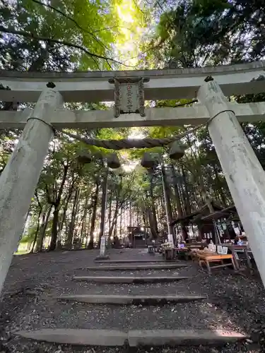
POLYGON ((215 80, 199 88, 198 100, 216 116, 208 131, 265 286, 265 172, 215 80))

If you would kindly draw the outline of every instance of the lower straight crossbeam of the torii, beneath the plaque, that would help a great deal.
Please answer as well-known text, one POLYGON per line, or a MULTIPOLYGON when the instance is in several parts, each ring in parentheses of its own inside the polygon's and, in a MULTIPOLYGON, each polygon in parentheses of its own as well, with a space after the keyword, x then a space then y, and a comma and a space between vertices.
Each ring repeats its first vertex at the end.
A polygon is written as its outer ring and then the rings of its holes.
MULTIPOLYGON (((228 102, 228 107, 235 112, 240 123, 252 123, 265 119, 265 102, 249 104, 228 102)), ((30 116, 33 116, 33 109, 24 109, 21 112, 0 111, 0 128, 24 128, 30 116)), ((113 116, 111 110, 54 109, 50 123, 57 129, 119 128, 200 125, 206 123, 209 119, 210 115, 206 107, 201 104, 194 104, 194 107, 185 108, 147 108, 146 116, 132 113, 122 114, 118 118, 113 116)))

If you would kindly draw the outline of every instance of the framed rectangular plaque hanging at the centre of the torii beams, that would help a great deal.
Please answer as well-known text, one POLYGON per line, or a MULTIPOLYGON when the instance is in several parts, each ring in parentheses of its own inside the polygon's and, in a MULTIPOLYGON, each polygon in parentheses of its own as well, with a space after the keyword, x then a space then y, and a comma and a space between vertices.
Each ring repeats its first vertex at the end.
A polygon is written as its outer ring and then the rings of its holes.
POLYGON ((144 87, 143 83, 149 78, 122 77, 110 78, 109 83, 114 83, 114 116, 120 114, 138 113, 146 116, 144 112, 144 87))

